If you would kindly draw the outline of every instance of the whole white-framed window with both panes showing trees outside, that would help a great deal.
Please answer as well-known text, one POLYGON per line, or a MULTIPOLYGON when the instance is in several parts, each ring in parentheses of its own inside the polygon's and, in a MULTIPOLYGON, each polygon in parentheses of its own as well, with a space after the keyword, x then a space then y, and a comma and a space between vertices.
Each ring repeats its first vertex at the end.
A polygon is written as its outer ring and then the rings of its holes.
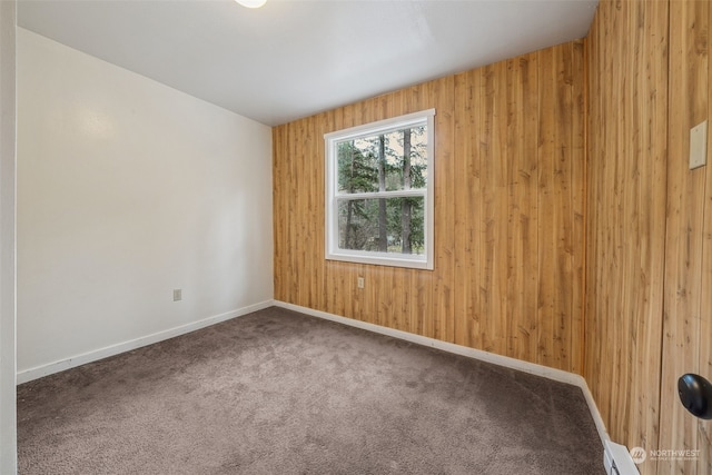
POLYGON ((435 110, 326 133, 326 258, 433 269, 435 110))

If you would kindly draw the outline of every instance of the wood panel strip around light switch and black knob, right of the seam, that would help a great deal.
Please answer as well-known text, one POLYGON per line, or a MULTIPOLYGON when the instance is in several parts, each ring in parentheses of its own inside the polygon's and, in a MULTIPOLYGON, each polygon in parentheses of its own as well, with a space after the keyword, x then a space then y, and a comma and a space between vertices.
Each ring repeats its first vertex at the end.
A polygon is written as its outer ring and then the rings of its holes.
POLYGON ((712 379, 712 138, 708 166, 689 169, 690 128, 708 120, 712 95, 709 1, 670 2, 668 228, 660 448, 699 449, 690 461, 659 463, 659 474, 712 474, 712 422, 680 404, 678 378, 712 379))

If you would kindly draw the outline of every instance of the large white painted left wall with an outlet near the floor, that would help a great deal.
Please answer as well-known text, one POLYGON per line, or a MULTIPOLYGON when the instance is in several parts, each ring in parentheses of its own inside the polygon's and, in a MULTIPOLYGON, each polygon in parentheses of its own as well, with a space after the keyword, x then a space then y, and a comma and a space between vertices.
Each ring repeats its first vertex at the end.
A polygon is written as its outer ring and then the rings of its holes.
POLYGON ((268 305, 271 129, 17 40, 19 380, 268 305))

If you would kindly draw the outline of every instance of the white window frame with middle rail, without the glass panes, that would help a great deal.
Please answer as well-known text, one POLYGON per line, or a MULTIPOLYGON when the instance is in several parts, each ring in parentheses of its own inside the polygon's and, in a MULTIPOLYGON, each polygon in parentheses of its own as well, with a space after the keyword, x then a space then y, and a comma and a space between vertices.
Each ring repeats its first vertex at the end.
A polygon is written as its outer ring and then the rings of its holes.
POLYGON ((423 110, 377 122, 365 123, 349 129, 324 135, 326 145, 326 259, 347 263, 375 264, 380 266, 408 267, 414 269, 433 270, 434 254, 434 186, 435 186, 435 109, 423 110), (400 130, 406 127, 426 125, 427 128, 427 182, 425 189, 408 189, 397 191, 376 191, 362 194, 340 194, 338 191, 337 145, 345 140, 360 137, 372 137, 400 130), (342 249, 338 246, 338 198, 348 196, 352 199, 364 198, 397 198, 405 196, 423 197, 424 204, 424 236, 425 253, 423 255, 407 255, 396 253, 378 253, 357 249, 342 249))

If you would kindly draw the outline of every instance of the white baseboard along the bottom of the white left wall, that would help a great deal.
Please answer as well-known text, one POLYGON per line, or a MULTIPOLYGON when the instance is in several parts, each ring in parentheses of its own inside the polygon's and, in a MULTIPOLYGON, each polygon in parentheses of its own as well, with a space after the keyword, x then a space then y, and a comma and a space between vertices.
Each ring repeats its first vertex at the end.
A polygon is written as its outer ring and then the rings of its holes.
POLYGON ((214 315, 197 321, 180 325, 178 327, 169 328, 162 331, 158 331, 151 335, 135 338, 128 342, 122 342, 116 345, 99 348, 92 352, 75 355, 67 359, 49 363, 47 365, 37 366, 33 368, 18 372, 17 384, 28 383, 32 379, 41 378, 42 376, 49 376, 55 373, 63 372, 65 369, 75 368, 77 366, 85 365, 87 363, 97 362, 99 359, 115 356, 120 353, 130 352, 142 346, 151 345, 154 343, 162 342, 168 338, 185 335, 190 331, 195 331, 200 328, 208 327, 210 325, 219 324, 220 321, 229 320, 231 318, 241 317, 243 315, 251 314, 253 311, 261 310, 267 307, 271 307, 274 300, 265 300, 258 304, 249 305, 247 307, 238 308, 236 310, 226 311, 225 314, 214 315))

